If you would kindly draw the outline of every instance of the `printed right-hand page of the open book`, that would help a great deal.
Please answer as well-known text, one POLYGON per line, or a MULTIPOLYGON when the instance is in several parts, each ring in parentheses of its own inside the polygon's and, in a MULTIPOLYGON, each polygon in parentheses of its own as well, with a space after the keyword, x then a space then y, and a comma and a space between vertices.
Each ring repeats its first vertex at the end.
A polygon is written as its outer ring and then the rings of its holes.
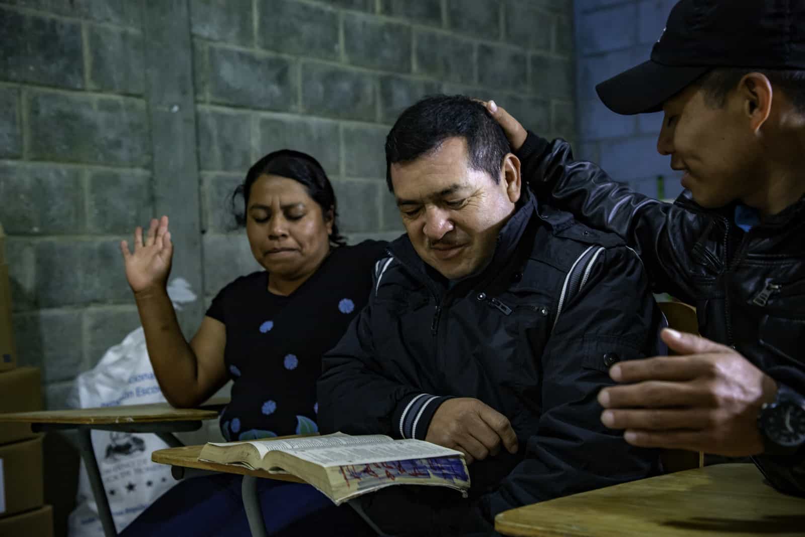
POLYGON ((379 462, 427 459, 434 456, 460 456, 461 452, 424 442, 423 440, 394 440, 393 442, 344 444, 329 448, 291 451, 303 461, 322 466, 369 465, 379 462))

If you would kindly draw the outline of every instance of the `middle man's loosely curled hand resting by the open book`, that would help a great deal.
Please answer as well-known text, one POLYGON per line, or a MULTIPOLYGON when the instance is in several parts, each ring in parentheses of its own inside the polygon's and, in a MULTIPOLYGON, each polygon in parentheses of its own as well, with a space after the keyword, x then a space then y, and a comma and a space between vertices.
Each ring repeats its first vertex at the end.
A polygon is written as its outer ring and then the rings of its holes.
POLYGON ((517 435, 509 419, 478 399, 462 397, 440 404, 425 440, 464 453, 467 464, 497 455, 501 444, 516 453, 517 435))

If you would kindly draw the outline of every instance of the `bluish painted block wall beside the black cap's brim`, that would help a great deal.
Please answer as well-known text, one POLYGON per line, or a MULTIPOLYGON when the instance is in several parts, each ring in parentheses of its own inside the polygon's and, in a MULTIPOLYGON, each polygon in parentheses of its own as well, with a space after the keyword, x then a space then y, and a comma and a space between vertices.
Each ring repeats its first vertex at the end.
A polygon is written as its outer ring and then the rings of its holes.
POLYGON ((576 0, 576 156, 601 164, 615 180, 648 196, 675 198, 680 174, 657 152, 663 114, 621 116, 595 85, 646 61, 676 0, 576 0))

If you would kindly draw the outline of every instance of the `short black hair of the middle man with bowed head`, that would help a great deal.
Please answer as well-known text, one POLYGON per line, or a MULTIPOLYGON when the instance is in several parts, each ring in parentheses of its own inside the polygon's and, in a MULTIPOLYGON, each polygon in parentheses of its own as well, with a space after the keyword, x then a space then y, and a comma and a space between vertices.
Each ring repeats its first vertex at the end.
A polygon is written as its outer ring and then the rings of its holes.
POLYGON ((448 138, 467 141, 469 167, 500 180, 503 159, 511 149, 501 126, 478 101, 461 95, 425 97, 406 109, 386 136, 386 184, 391 164, 407 163, 436 151, 448 138))

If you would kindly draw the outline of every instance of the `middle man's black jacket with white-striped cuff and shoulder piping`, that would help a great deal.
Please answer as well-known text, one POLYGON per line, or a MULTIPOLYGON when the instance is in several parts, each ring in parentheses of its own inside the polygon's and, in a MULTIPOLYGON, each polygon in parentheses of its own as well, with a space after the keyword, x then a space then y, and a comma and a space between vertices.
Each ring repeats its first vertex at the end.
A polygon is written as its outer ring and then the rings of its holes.
POLYGON ((524 197, 489 265, 452 287, 407 236, 392 242, 369 304, 324 356, 322 432, 424 439, 440 403, 472 397, 517 433, 516 456, 470 465, 470 501, 448 489, 369 494, 365 509, 390 534, 489 529, 502 510, 658 470, 656 451, 601 424, 596 399, 614 361, 658 353, 662 314, 642 264, 616 236, 524 197))

